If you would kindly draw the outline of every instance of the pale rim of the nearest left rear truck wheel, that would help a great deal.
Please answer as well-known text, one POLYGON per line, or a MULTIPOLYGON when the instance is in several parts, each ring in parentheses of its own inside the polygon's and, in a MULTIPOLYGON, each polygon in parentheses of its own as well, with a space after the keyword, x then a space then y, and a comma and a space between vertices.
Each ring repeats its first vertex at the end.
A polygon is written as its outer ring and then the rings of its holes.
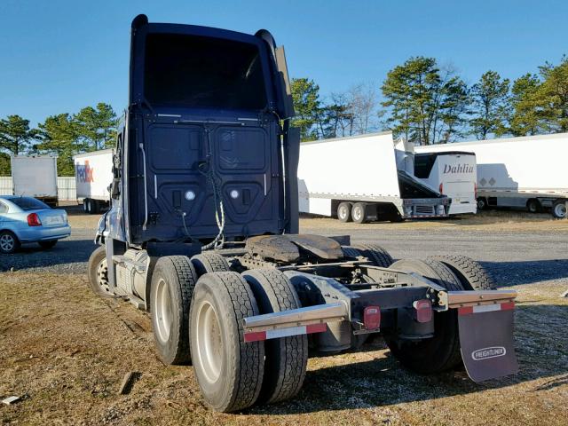
POLYGON ((203 301, 197 313, 197 354, 205 379, 217 382, 223 366, 223 341, 217 312, 203 301))

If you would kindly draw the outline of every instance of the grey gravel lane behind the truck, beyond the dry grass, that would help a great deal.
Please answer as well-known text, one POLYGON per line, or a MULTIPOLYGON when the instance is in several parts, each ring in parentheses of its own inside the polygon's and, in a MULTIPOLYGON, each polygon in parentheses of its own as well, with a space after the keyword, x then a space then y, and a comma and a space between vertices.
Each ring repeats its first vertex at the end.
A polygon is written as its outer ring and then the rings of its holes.
MULTIPOLYGON (((92 250, 98 216, 67 208, 71 237, 51 250, 36 244, 15 255, 0 255, 0 271, 83 273, 92 250)), ((452 221, 404 224, 340 224, 326 218, 301 219, 302 233, 350 234, 352 242, 381 244, 395 258, 461 254, 481 261, 500 286, 555 280, 568 285, 568 221, 548 215, 491 212, 452 221)), ((568 288, 568 287, 567 287, 568 288)))

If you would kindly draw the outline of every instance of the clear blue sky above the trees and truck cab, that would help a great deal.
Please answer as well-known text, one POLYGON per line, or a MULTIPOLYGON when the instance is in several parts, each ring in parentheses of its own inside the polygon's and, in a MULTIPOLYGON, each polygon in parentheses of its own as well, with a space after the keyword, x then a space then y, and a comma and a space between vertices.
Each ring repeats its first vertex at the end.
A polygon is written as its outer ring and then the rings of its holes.
POLYGON ((126 106, 130 21, 271 31, 293 77, 325 97, 383 82, 392 67, 429 56, 472 84, 486 70, 515 79, 568 53, 568 2, 0 0, 0 118, 32 125, 83 106, 126 106))

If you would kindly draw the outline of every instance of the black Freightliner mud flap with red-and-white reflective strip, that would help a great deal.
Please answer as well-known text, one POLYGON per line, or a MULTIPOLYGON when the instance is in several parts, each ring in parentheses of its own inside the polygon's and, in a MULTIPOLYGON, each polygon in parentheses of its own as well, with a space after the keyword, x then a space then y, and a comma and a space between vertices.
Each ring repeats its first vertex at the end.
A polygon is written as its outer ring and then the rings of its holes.
POLYGON ((513 345, 515 304, 490 304, 458 309, 461 358, 474 382, 518 371, 513 345))

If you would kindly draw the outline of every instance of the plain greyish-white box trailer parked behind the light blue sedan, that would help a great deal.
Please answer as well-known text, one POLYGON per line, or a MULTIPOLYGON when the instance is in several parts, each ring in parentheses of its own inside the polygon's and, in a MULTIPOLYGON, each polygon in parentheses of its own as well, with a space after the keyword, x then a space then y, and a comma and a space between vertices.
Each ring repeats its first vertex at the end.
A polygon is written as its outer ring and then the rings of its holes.
POLYGON ((11 163, 14 195, 34 197, 51 207, 57 206, 57 157, 14 155, 11 163))

